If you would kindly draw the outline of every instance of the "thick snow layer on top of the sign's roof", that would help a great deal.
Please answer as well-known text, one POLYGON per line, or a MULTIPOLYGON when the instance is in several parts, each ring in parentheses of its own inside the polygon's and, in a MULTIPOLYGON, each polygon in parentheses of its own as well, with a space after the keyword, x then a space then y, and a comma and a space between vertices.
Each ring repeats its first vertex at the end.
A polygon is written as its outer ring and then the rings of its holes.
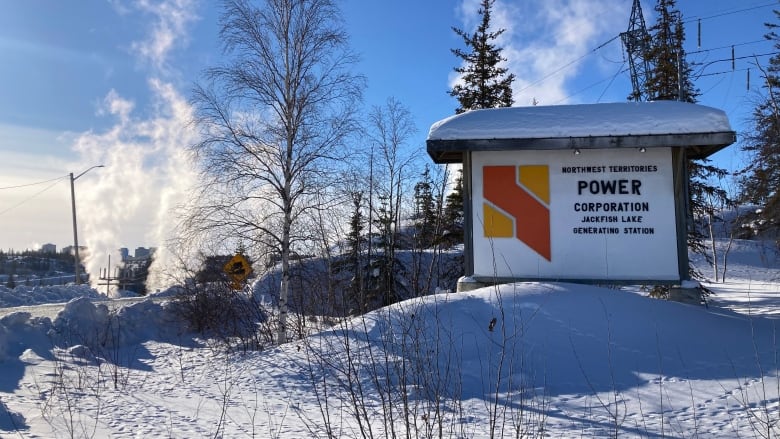
POLYGON ((732 131, 726 113, 677 101, 472 110, 431 126, 428 140, 539 139, 732 131))

